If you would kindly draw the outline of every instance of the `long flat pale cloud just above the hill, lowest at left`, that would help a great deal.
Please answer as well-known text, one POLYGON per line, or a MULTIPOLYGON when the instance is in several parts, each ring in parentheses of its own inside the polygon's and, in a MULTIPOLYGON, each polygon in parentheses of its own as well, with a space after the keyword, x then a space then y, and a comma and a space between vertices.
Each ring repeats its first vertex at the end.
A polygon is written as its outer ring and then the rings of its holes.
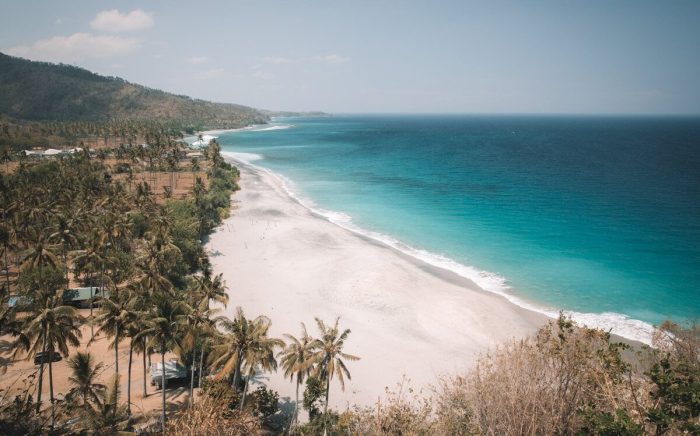
POLYGON ((7 53, 32 60, 74 62, 84 59, 104 59, 131 53, 141 46, 136 38, 74 33, 40 39, 32 45, 7 49, 7 53))

